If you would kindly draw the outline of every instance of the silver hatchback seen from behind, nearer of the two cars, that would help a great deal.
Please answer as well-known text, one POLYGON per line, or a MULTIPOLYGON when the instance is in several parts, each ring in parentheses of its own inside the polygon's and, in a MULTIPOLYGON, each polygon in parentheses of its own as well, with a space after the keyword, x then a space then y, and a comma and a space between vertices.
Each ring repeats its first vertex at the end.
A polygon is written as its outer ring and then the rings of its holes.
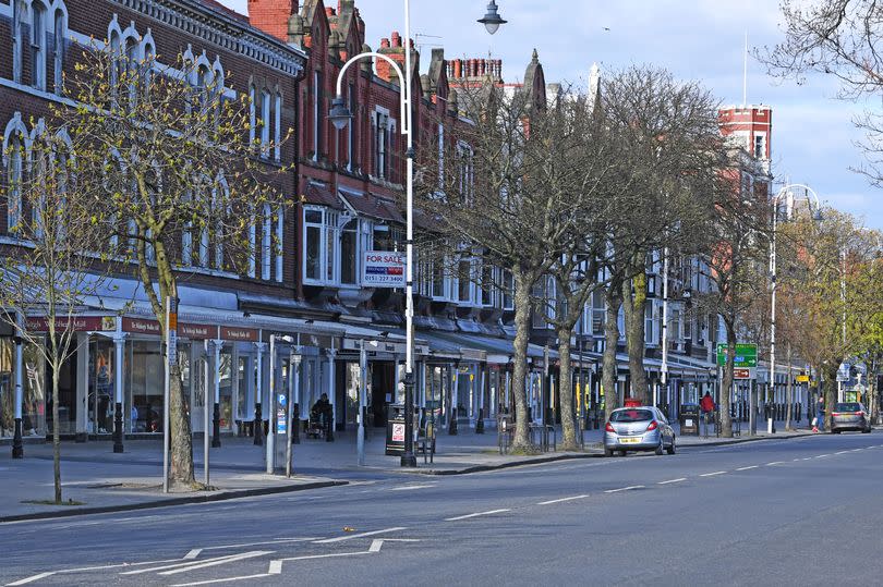
POLYGON ((614 452, 655 451, 675 454, 675 430, 663 413, 648 405, 614 409, 604 428, 604 456, 614 452))

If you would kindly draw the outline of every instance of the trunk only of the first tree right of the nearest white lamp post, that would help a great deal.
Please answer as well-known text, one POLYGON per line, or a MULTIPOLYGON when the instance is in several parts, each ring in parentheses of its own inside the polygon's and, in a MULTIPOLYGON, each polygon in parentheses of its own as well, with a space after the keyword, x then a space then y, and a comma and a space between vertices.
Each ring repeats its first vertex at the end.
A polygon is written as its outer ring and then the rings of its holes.
POLYGON ((531 321, 531 286, 521 272, 512 271, 515 277, 515 323, 513 342, 512 399, 516 404, 516 432, 512 449, 531 451, 530 423, 528 421, 528 393, 524 380, 528 377, 528 339, 531 321))

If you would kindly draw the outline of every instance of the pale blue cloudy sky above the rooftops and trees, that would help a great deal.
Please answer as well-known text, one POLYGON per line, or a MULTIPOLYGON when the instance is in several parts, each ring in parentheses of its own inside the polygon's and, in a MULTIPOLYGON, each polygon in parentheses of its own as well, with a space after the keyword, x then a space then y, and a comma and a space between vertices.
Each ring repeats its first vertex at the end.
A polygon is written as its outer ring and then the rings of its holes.
MULTIPOLYGON (((221 0, 247 12, 246 0, 221 0)), ((326 5, 337 8, 335 0, 326 5)), ((632 64, 665 68, 702 83, 722 105, 742 103, 745 36, 749 49, 783 38, 776 0, 497 0, 508 21, 494 36, 475 21, 486 0, 412 0, 411 30, 424 57, 503 59, 507 82, 521 81, 535 48, 547 83, 584 86, 593 62, 604 71, 632 64)), ((366 42, 376 49, 392 30, 404 35, 403 0, 356 0, 366 42)), ((822 203, 883 229, 883 191, 851 171, 864 160, 852 119, 863 106, 837 99, 837 85, 813 76, 798 85, 773 80, 748 60, 748 102, 773 109, 772 163, 778 188, 802 183, 822 203)))

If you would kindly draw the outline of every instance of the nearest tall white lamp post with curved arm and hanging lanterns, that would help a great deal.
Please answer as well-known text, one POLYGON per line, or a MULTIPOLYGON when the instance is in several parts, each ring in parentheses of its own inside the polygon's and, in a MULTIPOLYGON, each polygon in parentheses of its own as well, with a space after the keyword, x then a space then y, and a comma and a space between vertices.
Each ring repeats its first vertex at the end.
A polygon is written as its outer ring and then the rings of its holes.
MULTIPOLYGON (((484 24, 485 28, 492 35, 497 32, 499 25, 506 23, 499 14, 497 14, 497 4, 494 0, 487 5, 487 14, 479 20, 484 24)), ((331 101, 331 108, 328 111, 328 119, 335 125, 335 129, 342 131, 350 120, 353 118, 352 112, 343 103, 343 95, 341 87, 343 84, 343 75, 347 70, 356 61, 365 58, 383 59, 392 68, 396 75, 399 77, 401 84, 400 106, 401 106, 401 134, 407 139, 407 191, 406 191, 406 221, 407 221, 407 235, 406 235, 406 293, 404 293, 404 322, 406 322, 406 357, 404 357, 404 453, 401 455, 401 466, 415 467, 416 456, 414 455, 414 435, 413 435, 413 419, 414 412, 414 145, 413 134, 411 132, 413 108, 411 105, 411 1, 404 0, 404 73, 402 73, 399 64, 383 53, 375 51, 365 51, 350 58, 340 72, 337 74, 337 86, 335 99, 331 101)))

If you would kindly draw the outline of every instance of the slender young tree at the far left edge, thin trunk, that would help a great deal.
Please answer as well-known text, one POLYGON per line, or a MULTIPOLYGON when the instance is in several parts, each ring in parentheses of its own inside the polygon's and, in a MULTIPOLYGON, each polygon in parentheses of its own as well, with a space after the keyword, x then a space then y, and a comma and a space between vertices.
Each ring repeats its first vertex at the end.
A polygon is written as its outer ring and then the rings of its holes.
MULTIPOLYGON (((62 129, 38 124, 27 173, 5 186, 10 232, 15 243, 0 257, 0 320, 34 350, 52 372, 55 503, 61 503, 59 372, 76 351, 76 318, 86 298, 101 292, 106 264, 94 252, 102 231, 93 213, 96 194, 76 176, 74 154, 62 129)), ((7 146, 8 157, 22 157, 7 146)), ((20 393, 21 391, 19 391, 20 393)), ((22 423, 15 423, 20 441, 22 423)))

